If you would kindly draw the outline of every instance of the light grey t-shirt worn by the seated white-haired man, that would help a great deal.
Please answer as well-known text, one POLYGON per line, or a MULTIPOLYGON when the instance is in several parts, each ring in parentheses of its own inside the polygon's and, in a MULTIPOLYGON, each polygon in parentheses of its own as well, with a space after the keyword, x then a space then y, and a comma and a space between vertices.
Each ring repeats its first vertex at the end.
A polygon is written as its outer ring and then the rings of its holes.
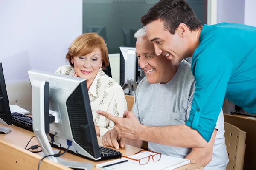
MULTIPOLYGON (((185 124, 189 119, 194 90, 195 80, 191 72, 191 65, 183 60, 170 82, 150 84, 145 77, 139 83, 132 112, 141 124, 147 126, 185 124)), ((204 170, 225 170, 227 167, 224 118, 222 109, 220 110, 221 113, 215 127, 218 131, 213 147, 212 161, 204 167, 204 170)), ((170 147, 152 142, 148 142, 148 148, 164 155, 181 158, 191 152, 191 148, 170 147)))

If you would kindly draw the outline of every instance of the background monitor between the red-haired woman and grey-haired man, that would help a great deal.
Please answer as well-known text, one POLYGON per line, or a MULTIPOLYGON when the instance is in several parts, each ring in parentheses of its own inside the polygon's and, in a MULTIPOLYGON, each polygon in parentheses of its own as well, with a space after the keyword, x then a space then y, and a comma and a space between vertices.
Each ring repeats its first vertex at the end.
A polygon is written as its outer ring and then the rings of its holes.
POLYGON ((138 65, 138 58, 133 47, 120 47, 120 82, 125 94, 134 96, 139 82, 145 77, 138 65))

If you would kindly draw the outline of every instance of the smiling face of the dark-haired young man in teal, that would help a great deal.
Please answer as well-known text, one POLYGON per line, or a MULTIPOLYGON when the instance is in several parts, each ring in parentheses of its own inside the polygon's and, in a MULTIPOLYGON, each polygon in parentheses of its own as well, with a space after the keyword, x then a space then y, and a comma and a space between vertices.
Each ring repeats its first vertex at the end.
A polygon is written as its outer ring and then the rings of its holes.
POLYGON ((189 41, 187 38, 188 29, 185 24, 180 24, 175 34, 164 29, 163 22, 155 20, 146 25, 148 39, 153 42, 155 53, 164 55, 172 64, 177 65, 188 56, 189 41))

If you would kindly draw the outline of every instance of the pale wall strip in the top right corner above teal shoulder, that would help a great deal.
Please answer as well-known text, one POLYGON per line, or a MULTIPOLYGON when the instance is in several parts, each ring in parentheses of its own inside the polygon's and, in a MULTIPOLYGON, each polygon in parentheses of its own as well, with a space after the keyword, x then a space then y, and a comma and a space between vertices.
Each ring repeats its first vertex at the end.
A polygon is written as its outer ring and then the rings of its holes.
POLYGON ((256 27, 256 0, 245 0, 244 24, 256 27))

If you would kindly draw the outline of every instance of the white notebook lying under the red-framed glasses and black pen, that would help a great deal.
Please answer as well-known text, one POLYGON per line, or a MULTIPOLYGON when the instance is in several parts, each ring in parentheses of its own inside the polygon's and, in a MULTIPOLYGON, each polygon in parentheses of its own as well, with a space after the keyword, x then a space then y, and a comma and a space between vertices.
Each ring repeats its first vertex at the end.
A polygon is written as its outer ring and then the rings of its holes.
MULTIPOLYGON (((129 156, 129 157, 133 159, 141 159, 152 154, 154 153, 143 152, 143 153, 138 153, 136 155, 129 156)), ((183 165, 186 165, 189 163, 190 163, 189 159, 162 155, 159 161, 153 161, 151 157, 148 164, 145 164, 145 165, 140 165, 138 161, 133 161, 127 158, 121 158, 121 159, 116 159, 114 161, 108 161, 102 164, 97 164, 96 167, 102 170, 173 170, 175 168, 182 167, 183 165), (105 165, 114 164, 116 162, 124 161, 124 160, 128 160, 128 162, 102 168, 105 165)))

